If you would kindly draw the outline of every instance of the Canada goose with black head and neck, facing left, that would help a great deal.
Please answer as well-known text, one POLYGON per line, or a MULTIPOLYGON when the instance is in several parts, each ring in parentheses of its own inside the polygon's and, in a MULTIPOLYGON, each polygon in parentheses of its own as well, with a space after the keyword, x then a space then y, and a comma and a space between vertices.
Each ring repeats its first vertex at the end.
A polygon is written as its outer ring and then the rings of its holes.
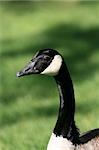
POLYGON ((62 55, 53 49, 43 49, 17 73, 53 76, 59 91, 58 117, 47 150, 99 150, 99 128, 80 135, 74 120, 75 97, 73 83, 62 55))

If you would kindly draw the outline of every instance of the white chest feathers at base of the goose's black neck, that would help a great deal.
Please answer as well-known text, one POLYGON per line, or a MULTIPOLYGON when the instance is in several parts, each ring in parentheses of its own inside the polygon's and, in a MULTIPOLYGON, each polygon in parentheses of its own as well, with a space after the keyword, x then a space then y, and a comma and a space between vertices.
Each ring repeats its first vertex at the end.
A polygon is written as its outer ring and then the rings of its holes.
POLYGON ((74 150, 75 146, 66 138, 59 137, 52 133, 47 150, 74 150))

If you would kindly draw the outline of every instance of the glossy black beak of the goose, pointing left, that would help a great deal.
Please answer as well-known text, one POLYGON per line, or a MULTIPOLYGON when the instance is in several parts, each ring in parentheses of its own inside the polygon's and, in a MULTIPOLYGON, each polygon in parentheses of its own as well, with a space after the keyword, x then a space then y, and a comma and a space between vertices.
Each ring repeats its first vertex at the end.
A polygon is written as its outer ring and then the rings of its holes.
POLYGON ((39 74, 39 71, 34 67, 35 61, 30 61, 26 67, 19 71, 16 75, 17 77, 22 77, 30 74, 39 74))

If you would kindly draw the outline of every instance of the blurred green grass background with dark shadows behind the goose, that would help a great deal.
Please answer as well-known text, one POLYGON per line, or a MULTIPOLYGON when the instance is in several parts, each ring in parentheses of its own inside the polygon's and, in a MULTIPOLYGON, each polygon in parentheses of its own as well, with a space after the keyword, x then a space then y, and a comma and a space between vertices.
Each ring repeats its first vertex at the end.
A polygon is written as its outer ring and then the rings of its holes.
POLYGON ((39 49, 57 49, 74 83, 81 133, 99 127, 99 3, 0 2, 0 150, 44 150, 55 125, 52 77, 17 78, 39 49))

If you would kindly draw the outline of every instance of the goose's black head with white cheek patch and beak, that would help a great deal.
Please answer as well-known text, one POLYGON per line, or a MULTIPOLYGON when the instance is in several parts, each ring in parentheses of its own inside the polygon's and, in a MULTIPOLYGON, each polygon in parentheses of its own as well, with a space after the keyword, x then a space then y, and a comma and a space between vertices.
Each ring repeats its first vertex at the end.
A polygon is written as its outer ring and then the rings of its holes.
POLYGON ((18 77, 30 74, 46 74, 56 76, 61 68, 63 58, 53 49, 40 50, 21 71, 18 77))

